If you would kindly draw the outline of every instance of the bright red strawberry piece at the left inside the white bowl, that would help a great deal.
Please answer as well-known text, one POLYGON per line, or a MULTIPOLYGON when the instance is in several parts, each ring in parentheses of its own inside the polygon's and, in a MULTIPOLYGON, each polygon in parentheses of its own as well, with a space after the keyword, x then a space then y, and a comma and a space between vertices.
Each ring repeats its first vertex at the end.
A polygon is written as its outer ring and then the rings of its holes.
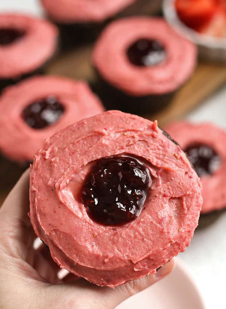
POLYGON ((208 23, 216 13, 218 0, 176 0, 179 18, 188 27, 197 30, 208 23))

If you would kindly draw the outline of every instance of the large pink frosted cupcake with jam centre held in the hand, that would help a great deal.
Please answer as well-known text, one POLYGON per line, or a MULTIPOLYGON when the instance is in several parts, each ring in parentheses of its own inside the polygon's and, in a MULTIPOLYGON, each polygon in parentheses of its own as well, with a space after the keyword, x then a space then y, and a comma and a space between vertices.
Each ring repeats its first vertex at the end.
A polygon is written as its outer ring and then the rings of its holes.
POLYGON ((201 184, 151 122, 109 111, 47 139, 31 166, 30 218, 62 268, 100 286, 141 278, 190 244, 201 184))

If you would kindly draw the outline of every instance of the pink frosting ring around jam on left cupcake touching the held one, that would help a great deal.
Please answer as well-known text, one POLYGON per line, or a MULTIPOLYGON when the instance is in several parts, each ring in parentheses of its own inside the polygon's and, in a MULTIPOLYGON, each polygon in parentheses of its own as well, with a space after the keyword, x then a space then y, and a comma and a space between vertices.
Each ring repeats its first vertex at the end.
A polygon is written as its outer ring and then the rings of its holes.
POLYGON ((0 98, 0 148, 16 161, 33 161, 46 138, 67 125, 103 112, 99 99, 87 83, 59 76, 36 76, 6 88, 0 98), (32 129, 22 119, 23 109, 49 95, 64 105, 59 120, 44 129, 32 129))

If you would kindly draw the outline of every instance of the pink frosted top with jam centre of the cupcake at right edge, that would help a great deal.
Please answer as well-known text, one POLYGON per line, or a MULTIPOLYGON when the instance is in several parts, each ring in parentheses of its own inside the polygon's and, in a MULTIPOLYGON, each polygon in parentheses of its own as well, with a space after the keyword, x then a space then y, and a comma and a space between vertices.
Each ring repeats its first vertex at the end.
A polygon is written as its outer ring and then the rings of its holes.
POLYGON ((211 123, 175 122, 166 127, 190 157, 203 185, 202 214, 226 207, 226 132, 211 123))

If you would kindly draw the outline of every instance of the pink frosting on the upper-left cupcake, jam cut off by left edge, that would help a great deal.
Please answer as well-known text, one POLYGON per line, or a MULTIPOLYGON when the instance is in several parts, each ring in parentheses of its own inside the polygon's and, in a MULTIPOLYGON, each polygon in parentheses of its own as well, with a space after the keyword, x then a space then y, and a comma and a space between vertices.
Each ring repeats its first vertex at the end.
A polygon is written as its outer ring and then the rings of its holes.
POLYGON ((21 14, 0 14, 0 28, 24 30, 25 35, 0 45, 0 78, 17 78, 42 66, 56 50, 58 29, 51 23, 21 14))

